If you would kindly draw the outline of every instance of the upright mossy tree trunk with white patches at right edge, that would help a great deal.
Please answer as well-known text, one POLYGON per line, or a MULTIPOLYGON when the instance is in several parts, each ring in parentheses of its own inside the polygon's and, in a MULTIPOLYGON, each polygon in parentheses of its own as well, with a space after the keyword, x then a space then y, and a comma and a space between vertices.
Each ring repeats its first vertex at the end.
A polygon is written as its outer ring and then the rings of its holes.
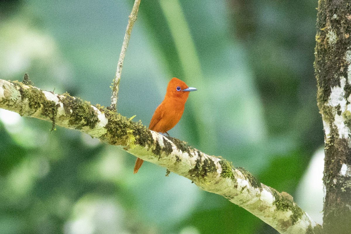
POLYGON ((319 0, 314 68, 325 133, 325 233, 351 233, 350 34, 350 0, 319 0))

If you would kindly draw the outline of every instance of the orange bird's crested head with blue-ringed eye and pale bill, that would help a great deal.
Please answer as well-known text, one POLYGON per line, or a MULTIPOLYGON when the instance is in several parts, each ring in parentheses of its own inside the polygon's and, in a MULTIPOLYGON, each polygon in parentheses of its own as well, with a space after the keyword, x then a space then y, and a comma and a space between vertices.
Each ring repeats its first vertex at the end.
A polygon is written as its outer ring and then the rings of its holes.
POLYGON ((168 82, 166 96, 170 98, 180 98, 186 101, 190 91, 196 91, 196 88, 188 87, 185 82, 173 77, 168 82))

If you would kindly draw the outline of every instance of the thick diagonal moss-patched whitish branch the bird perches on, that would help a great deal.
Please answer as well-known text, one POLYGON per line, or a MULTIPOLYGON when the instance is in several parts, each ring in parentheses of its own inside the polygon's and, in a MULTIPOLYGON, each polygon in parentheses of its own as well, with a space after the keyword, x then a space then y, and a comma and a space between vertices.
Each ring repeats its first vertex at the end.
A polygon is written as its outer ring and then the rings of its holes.
MULTIPOLYGON (((192 180, 201 189, 224 196, 280 233, 320 233, 292 196, 260 183, 243 168, 207 155, 176 138, 148 130, 119 113, 93 106, 69 94, 55 94, 18 81, 0 79, 0 108, 76 129, 192 180)), ((131 171, 132 173, 132 171, 131 171)), ((137 175, 138 176, 138 175, 137 175)), ((235 217, 233 217, 235 219, 235 217)))

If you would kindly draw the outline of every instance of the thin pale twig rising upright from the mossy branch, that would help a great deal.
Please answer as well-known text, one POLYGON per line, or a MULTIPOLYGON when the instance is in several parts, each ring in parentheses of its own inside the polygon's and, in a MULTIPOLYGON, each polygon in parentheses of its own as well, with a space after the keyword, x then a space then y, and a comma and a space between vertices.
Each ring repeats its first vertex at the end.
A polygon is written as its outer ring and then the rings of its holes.
POLYGON ((119 81, 121 79, 121 72, 122 72, 124 56, 126 54, 129 39, 131 37, 131 32, 132 32, 134 22, 135 22, 135 20, 137 20, 139 4, 140 4, 140 0, 135 0, 132 12, 131 12, 130 16, 128 17, 129 19, 128 19, 128 25, 127 25, 127 29, 126 29, 126 34, 124 35, 122 49, 121 49, 121 53, 119 55, 116 75, 113 79, 112 96, 111 96, 111 109, 113 109, 113 110, 117 109, 116 106, 117 106, 117 99, 118 99, 119 81))

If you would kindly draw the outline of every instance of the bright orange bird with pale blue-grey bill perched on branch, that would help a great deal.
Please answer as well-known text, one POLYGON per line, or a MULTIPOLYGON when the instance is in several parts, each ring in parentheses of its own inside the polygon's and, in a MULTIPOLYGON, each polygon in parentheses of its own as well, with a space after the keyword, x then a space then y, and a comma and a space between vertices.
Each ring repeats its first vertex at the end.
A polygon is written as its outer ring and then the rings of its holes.
MULTIPOLYGON (((168 83, 164 100, 152 115, 149 129, 163 134, 176 126, 181 115, 183 115, 189 91, 196 90, 196 88, 188 87, 183 81, 173 77, 168 83)), ((134 174, 138 172, 143 162, 143 159, 137 158, 134 166, 134 174)))

